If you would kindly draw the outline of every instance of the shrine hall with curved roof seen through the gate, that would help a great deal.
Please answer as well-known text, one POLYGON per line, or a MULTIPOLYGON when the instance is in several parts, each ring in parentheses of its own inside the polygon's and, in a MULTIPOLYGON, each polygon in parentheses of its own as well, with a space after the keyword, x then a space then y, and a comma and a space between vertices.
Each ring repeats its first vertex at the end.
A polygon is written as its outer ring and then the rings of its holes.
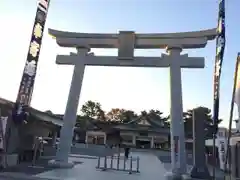
MULTIPOLYGON (((139 148, 168 147, 170 129, 159 120, 139 117, 128 123, 88 119, 86 144, 113 144, 113 134, 119 134, 121 143, 139 148)), ((76 139, 82 128, 75 128, 76 139)), ((83 133, 82 133, 83 134, 83 133)))

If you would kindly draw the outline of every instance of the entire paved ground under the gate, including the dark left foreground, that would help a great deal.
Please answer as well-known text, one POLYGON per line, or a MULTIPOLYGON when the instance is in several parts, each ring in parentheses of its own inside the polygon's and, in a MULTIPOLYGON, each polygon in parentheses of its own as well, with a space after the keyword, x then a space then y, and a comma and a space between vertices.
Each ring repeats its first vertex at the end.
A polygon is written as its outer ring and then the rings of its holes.
MULTIPOLYGON (((133 150, 131 155, 133 157, 132 169, 136 169, 136 158, 139 157, 139 171, 140 173, 129 174, 128 171, 116 171, 116 170, 106 170, 102 171, 96 169, 98 164, 99 152, 103 152, 103 147, 78 147, 79 151, 74 150, 69 156, 69 159, 75 163, 72 169, 53 169, 47 167, 47 162, 52 157, 47 157, 39 165, 43 168, 32 168, 29 169, 26 165, 23 165, 20 169, 14 170, 10 169, 8 172, 0 173, 0 180, 2 179, 45 179, 45 180, 104 180, 106 178, 114 180, 161 180, 165 179, 164 175, 171 171, 170 164, 170 153, 163 151, 147 151, 147 150, 133 150), (89 150, 91 149, 91 151, 89 150), (96 152, 94 152, 94 150, 96 152), (89 153, 91 152, 91 153, 89 153), (74 154, 73 154, 74 153, 74 154), (46 166, 46 167, 44 167, 46 166), (28 169, 27 169, 28 168, 28 169), (11 177, 11 178, 10 178, 11 177)), ((116 151, 115 151, 116 152, 116 151)), ((120 154, 123 156, 123 154, 120 154)), ((188 160, 188 172, 192 168, 192 159, 188 160)), ((117 160, 113 162, 113 167, 117 166, 117 160)), ((103 166, 104 158, 101 159, 101 166, 103 166)), ((108 167, 110 167, 111 161, 107 161, 108 167)), ((123 160, 120 160, 120 168, 123 166, 123 160)), ((126 161, 126 169, 130 168, 130 160, 126 161)), ((211 168, 210 168, 211 172, 211 168)), ((223 173, 217 171, 217 179, 223 179, 223 173)))

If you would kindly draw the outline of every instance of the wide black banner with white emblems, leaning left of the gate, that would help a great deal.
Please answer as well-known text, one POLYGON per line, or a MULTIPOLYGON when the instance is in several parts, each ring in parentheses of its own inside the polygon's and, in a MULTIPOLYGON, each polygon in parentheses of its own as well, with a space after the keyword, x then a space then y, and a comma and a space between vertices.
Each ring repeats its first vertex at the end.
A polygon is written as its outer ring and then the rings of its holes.
POLYGON ((33 25, 27 60, 24 67, 17 100, 12 113, 13 121, 15 123, 22 123, 27 116, 27 108, 30 105, 34 81, 36 77, 39 53, 42 44, 49 1, 50 0, 38 1, 37 13, 33 25))

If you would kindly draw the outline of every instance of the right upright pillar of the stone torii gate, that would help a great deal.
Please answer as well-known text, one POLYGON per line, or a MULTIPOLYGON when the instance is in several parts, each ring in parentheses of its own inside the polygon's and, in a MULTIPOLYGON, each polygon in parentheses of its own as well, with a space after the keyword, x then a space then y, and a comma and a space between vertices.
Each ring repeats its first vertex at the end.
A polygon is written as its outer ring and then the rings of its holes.
MULTIPOLYGON (((185 133, 183 124, 181 63, 185 60, 180 55, 179 47, 168 47, 170 63, 170 119, 171 119, 171 162, 172 171, 176 174, 186 173, 185 133), (176 147, 177 146, 177 147, 176 147), (178 160, 176 161, 176 150, 178 160), (178 162, 178 164, 176 163, 178 162), (179 167, 178 167, 179 166, 179 167)), ((188 58, 188 57, 186 57, 188 58)), ((189 67, 191 67, 189 65, 189 67)))

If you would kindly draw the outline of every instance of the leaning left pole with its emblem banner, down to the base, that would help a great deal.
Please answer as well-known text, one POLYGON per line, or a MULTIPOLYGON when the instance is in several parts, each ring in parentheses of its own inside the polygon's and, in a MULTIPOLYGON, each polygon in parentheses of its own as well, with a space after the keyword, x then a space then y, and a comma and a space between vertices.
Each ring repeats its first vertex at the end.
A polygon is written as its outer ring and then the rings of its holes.
POLYGON ((35 83, 35 77, 37 72, 37 65, 39 60, 39 54, 42 45, 44 27, 46 23, 47 13, 49 9, 50 0, 38 0, 37 11, 35 15, 34 25, 32 29, 32 35, 30 44, 28 47, 28 54, 26 63, 24 66, 17 98, 12 109, 11 120, 8 121, 9 130, 6 134, 7 152, 13 153, 18 149, 20 139, 13 134, 19 134, 19 128, 24 124, 24 121, 28 117, 29 106, 31 103, 32 92, 35 83), (16 131, 16 133, 10 133, 16 131), (14 136, 14 137, 13 137, 14 136), (15 141, 15 145, 11 146, 9 142, 15 141))

